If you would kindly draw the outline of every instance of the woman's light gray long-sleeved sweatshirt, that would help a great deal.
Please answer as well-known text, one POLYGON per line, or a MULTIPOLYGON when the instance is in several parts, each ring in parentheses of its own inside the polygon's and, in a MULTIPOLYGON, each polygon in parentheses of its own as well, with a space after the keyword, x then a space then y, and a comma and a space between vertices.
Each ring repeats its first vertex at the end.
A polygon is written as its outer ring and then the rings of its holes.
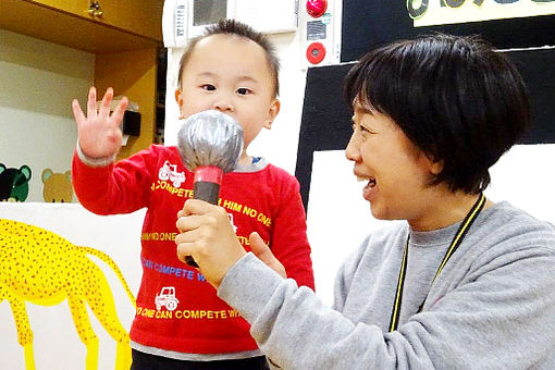
POLYGON ((283 369, 555 369, 555 229, 497 203, 431 284, 458 226, 377 230, 340 269, 333 308, 251 254, 218 293, 283 369), (387 332, 409 233, 399 325, 387 332))

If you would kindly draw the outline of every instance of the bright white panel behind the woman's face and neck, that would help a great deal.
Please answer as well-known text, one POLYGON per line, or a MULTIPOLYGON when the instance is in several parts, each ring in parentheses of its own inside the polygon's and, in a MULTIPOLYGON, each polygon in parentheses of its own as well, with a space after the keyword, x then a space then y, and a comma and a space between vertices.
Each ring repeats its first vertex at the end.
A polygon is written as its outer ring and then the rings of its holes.
MULTIPOLYGON (((555 145, 518 145, 506 152, 491 171, 485 196, 509 201, 533 217, 555 224, 555 145)), ((362 186, 353 175, 344 150, 317 151, 308 203, 308 238, 312 247, 317 293, 333 301, 333 282, 341 262, 372 229, 391 222, 375 220, 362 198, 362 186), (330 175, 333 174, 333 175, 330 175)))

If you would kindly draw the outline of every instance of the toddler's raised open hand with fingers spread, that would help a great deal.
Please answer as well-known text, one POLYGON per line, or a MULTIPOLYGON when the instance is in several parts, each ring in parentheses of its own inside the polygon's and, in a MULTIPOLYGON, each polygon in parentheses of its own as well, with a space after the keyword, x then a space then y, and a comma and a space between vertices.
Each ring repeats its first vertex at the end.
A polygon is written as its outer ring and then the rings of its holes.
POLYGON ((127 108, 127 98, 123 98, 112 114, 110 104, 113 89, 109 87, 97 107, 97 90, 92 86, 88 91, 87 114, 81 109, 77 99, 72 101, 72 111, 77 123, 77 135, 81 150, 90 158, 113 156, 122 146, 123 113, 127 108))

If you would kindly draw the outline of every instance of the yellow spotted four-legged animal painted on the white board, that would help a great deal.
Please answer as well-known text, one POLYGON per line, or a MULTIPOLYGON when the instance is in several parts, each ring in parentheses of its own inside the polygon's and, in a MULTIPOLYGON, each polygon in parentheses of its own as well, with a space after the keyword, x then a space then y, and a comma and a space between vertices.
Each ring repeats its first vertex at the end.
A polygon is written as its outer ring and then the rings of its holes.
POLYGON ((130 335, 118 319, 102 270, 87 255, 98 257, 112 268, 135 306, 135 297, 122 272, 104 252, 75 246, 37 226, 0 219, 0 303, 3 299, 10 303, 27 370, 35 370, 35 358, 25 300, 52 306, 65 298, 77 334, 87 347, 86 369, 98 368, 98 337, 90 325, 85 301, 118 343, 115 369, 130 369, 130 335))

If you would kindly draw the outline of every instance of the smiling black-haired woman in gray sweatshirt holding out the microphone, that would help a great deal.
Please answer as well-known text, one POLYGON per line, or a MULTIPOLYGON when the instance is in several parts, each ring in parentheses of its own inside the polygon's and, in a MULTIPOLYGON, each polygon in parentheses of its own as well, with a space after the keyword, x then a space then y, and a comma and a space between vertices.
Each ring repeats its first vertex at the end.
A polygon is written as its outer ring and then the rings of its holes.
POLYGON ((362 197, 406 222, 346 259, 333 309, 246 254, 201 200, 177 221, 181 258, 282 369, 555 369, 555 227, 482 194, 530 120, 515 66, 480 39, 433 35, 369 52, 345 91, 362 197))

